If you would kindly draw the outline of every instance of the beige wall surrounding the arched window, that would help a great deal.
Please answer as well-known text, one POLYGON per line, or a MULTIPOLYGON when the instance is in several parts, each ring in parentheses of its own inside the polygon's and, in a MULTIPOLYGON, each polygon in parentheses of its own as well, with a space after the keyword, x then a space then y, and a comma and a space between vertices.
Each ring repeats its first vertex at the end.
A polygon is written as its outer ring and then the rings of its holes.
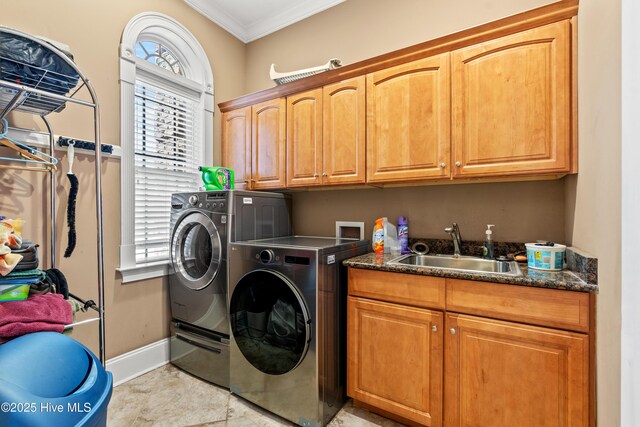
MULTIPOLYGON (((4 0, 0 25, 31 34, 59 40, 71 46, 76 63, 91 79, 102 107, 102 138, 109 144, 120 144, 120 109, 118 84, 118 47, 122 31, 135 15, 145 11, 167 14, 186 26, 200 41, 209 57, 215 82, 215 100, 233 98, 244 93, 245 46, 236 38, 213 25, 181 1, 82 1, 4 0)), ((214 124, 215 156, 220 158, 220 114, 214 124)), ((39 125, 32 118, 14 117, 21 124, 39 125)), ((80 138, 92 138, 91 116, 86 111, 68 107, 52 114, 54 132, 80 138)), ((214 143, 210 141, 209 143, 214 143)), ((78 199, 78 247, 70 259, 59 262, 72 289, 81 296, 96 299, 95 289, 95 214, 93 158, 82 156, 76 162, 81 182, 78 199)), ((66 161, 63 169, 66 173, 66 161)), ((56 192, 59 196, 57 253, 67 242, 64 212, 68 182, 59 174, 56 192), (65 233, 65 234, 63 234, 65 233)), ((28 174, 0 172, 0 212, 21 216, 29 221, 25 235, 44 242, 40 196, 41 178, 28 174)), ((105 231, 105 289, 107 318, 107 357, 113 357, 168 335, 169 307, 166 279, 122 285, 115 272, 119 264, 120 244, 120 162, 107 160, 103 173, 105 231)), ((46 251, 43 251, 46 252, 46 251)), ((95 342, 95 326, 77 328, 83 340, 95 342)), ((94 348, 95 344, 93 345, 94 348)))

